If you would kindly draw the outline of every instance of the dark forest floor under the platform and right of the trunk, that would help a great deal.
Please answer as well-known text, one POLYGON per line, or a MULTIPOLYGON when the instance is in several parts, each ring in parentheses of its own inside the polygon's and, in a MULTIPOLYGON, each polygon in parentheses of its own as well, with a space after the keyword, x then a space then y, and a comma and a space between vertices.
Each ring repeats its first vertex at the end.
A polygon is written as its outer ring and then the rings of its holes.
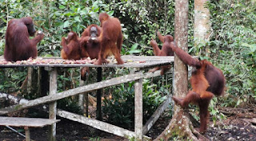
MULTIPOLYGON (((222 119, 215 123, 210 121, 206 137, 210 140, 256 140, 256 104, 246 104, 238 108, 219 108, 219 112, 226 115, 226 119, 222 119)), ((147 133, 148 136, 155 139, 170 122, 170 117, 166 114, 158 119, 153 128, 147 133)), ((59 118, 58 118, 59 119, 59 118)), ((211 119, 211 118, 210 118, 211 119)), ((22 127, 14 127, 15 130, 24 130, 22 127)), ((32 140, 46 141, 48 127, 31 127, 30 136, 32 140)), ((0 127, 0 141, 19 141, 25 140, 22 135, 18 135, 7 127, 0 127)), ((77 123, 69 119, 61 119, 57 123, 57 140, 74 141, 74 140, 128 140, 117 135, 99 131, 94 127, 86 126, 82 123, 77 123)))

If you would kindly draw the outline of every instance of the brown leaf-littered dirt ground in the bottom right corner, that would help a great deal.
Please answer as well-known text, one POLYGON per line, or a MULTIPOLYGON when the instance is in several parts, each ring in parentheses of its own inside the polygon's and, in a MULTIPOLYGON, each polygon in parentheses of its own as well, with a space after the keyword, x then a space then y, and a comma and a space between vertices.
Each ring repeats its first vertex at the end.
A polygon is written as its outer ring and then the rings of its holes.
POLYGON ((256 104, 218 110, 226 119, 208 128, 206 135, 210 140, 256 140, 256 104))

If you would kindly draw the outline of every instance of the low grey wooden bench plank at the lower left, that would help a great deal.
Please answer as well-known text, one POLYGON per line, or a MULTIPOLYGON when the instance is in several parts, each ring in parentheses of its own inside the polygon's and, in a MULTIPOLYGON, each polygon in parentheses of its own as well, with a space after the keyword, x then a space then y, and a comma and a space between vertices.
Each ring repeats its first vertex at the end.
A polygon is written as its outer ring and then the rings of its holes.
POLYGON ((60 119, 22 118, 0 116, 0 125, 10 127, 44 127, 59 122, 60 119))

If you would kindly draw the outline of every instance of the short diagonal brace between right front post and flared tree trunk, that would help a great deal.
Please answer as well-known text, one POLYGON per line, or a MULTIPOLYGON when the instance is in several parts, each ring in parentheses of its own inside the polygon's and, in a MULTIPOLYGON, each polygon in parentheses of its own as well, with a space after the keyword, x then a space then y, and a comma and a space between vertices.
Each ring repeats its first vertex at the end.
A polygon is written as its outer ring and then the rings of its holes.
POLYGON ((161 116, 162 112, 166 110, 168 105, 171 102, 171 96, 167 96, 167 99, 162 102, 162 104, 156 109, 154 114, 150 117, 150 119, 146 122, 146 124, 143 127, 143 135, 146 135, 146 133, 150 130, 150 128, 154 125, 154 123, 158 120, 159 116, 161 116))

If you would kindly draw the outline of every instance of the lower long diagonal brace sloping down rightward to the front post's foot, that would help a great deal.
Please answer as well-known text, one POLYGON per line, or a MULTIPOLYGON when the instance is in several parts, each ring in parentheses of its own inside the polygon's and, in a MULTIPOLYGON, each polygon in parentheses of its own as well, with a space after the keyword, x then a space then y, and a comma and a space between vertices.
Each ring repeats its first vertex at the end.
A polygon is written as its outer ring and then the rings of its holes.
MULTIPOLYGON (((63 118, 77 121, 79 123, 84 123, 91 127, 95 127, 99 130, 112 133, 114 135, 119 135, 119 136, 126 137, 126 138, 135 136, 135 133, 133 131, 129 131, 122 127, 117 127, 117 126, 111 125, 110 123, 104 123, 97 119, 87 118, 85 116, 80 116, 80 115, 77 115, 77 114, 74 114, 71 112, 62 111, 62 110, 58 110, 57 114, 58 114, 58 116, 61 116, 63 118)), ((147 137, 146 135, 144 135, 143 139, 150 140, 150 137, 147 137)))

